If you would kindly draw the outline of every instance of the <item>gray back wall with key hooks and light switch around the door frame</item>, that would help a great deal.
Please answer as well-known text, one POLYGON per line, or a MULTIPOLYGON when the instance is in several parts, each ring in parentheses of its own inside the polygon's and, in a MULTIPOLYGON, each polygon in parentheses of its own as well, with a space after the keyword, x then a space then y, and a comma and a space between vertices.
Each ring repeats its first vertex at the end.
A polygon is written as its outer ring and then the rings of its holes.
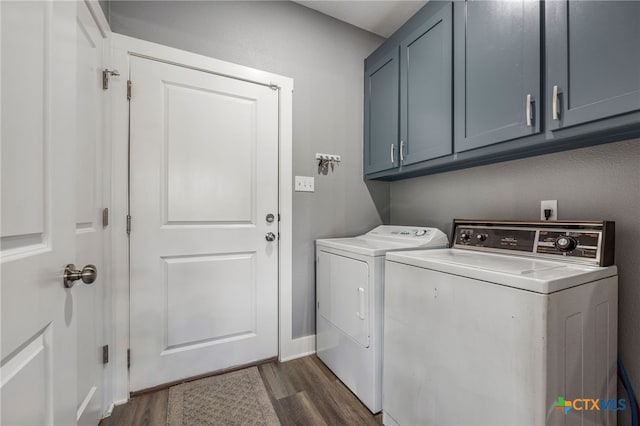
POLYGON ((314 240, 389 220, 389 185, 362 179, 363 61, 383 39, 292 2, 110 2, 114 32, 294 79, 293 336, 315 333, 314 240), (316 152, 342 163, 318 175, 316 152))

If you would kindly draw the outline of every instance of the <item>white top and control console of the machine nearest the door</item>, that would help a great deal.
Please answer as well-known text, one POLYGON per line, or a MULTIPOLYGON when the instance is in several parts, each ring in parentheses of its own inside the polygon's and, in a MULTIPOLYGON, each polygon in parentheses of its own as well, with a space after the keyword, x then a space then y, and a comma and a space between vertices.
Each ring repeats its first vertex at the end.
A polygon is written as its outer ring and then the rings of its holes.
POLYGON ((394 250, 444 248, 449 240, 437 228, 380 225, 359 237, 316 240, 316 244, 365 256, 384 256, 394 250))

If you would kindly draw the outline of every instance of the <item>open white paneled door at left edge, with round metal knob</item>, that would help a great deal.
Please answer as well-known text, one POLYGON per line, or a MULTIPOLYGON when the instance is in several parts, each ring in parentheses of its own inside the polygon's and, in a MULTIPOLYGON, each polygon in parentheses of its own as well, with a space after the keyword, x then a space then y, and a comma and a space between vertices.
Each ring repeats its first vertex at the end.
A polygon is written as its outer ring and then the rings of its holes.
POLYGON ((3 425, 76 423, 73 2, 0 2, 3 425))

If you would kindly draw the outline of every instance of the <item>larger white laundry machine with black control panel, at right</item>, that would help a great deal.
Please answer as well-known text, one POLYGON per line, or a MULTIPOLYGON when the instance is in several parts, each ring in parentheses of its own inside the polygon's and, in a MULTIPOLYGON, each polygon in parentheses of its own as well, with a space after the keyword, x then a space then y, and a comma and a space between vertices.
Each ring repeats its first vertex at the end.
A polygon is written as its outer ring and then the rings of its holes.
POLYGON ((458 220, 450 249, 389 253, 384 424, 615 425, 563 404, 616 399, 613 225, 458 220))

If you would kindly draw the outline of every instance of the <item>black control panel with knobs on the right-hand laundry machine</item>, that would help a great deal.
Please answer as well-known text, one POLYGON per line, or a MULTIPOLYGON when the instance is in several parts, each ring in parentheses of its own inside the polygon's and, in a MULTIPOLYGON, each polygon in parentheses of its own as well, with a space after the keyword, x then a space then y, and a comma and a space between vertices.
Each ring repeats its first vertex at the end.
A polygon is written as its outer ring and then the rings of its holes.
POLYGON ((453 223, 453 248, 511 252, 597 266, 614 263, 614 222, 456 219, 453 223))

